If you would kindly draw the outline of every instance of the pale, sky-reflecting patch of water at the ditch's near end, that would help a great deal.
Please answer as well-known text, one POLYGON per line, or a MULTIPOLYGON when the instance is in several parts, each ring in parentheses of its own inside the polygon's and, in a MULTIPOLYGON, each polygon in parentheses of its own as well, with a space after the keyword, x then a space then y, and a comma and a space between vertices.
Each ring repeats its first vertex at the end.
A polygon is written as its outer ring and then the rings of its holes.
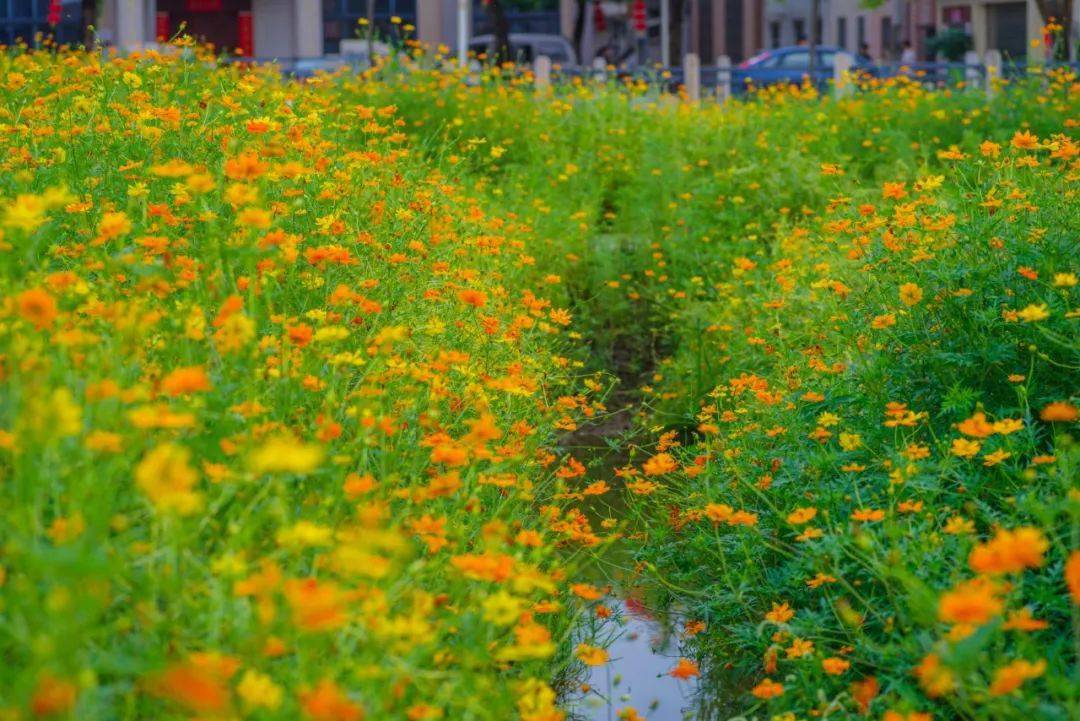
POLYGON ((678 639, 667 624, 651 616, 634 600, 612 599, 618 613, 605 621, 602 632, 613 638, 609 663, 588 670, 588 689, 571 705, 582 721, 697 719, 693 696, 698 680, 671 676, 678 663, 678 639))

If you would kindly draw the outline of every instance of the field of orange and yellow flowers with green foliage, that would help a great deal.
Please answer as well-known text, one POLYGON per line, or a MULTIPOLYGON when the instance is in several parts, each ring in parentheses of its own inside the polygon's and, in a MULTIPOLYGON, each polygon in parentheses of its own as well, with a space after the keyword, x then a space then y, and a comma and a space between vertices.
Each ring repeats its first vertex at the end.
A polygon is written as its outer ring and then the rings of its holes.
POLYGON ((0 56, 0 719, 1080 715, 1074 74, 205 60, 0 56))

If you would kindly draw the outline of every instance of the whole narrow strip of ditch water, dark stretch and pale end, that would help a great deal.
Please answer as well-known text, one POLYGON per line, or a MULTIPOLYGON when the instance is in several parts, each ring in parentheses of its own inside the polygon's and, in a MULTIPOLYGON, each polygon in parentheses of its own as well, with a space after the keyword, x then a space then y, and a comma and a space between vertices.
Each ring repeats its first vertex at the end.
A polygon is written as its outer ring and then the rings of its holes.
MULTIPOLYGON (((563 444, 585 465, 590 482, 606 480, 611 490, 592 499, 585 511, 594 528, 604 521, 626 523, 625 489, 616 470, 627 462, 630 412, 573 434, 563 444)), ((670 675, 679 659, 675 620, 650 611, 632 573, 633 558, 620 541, 608 545, 589 573, 597 586, 610 588, 606 606, 613 613, 596 620, 597 637, 608 640, 610 661, 586 668, 569 700, 570 718, 580 721, 697 719, 697 679, 670 675), (631 711, 630 709, 633 709, 631 711), (634 713, 636 712, 636 716, 634 713)))

